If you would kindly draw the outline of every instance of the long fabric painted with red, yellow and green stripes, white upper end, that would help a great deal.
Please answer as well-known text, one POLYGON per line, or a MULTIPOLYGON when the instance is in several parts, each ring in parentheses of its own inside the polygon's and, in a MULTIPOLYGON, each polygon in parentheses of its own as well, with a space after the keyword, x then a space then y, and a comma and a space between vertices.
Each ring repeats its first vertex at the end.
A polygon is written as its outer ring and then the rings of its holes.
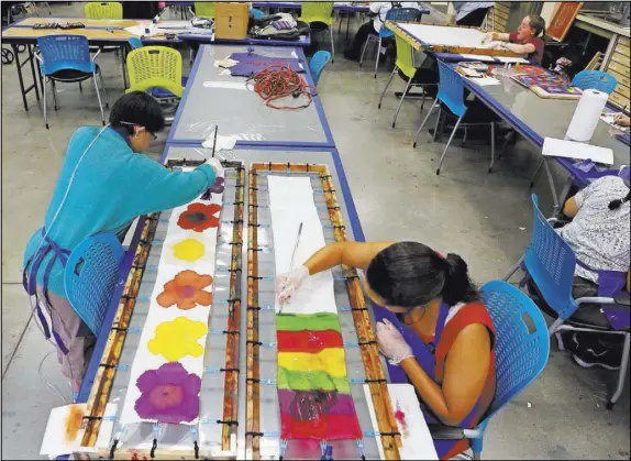
MULTIPOLYGON (((276 273, 324 246, 309 177, 268 176, 276 273)), ((278 402, 283 440, 358 440, 344 343, 330 271, 309 277, 289 303, 276 305, 278 402)))

